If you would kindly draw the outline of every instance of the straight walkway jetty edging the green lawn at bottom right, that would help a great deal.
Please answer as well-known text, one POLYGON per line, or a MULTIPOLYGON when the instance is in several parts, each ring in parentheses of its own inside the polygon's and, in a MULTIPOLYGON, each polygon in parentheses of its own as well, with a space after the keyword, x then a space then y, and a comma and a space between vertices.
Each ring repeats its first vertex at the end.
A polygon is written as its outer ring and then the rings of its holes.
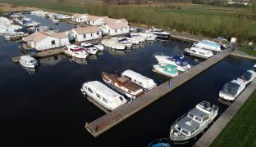
POLYGON ((225 112, 219 118, 217 118, 217 121, 214 122, 213 125, 203 134, 203 136, 199 138, 194 146, 210 146, 217 138, 217 136, 222 132, 222 130, 226 127, 227 123, 230 122, 231 119, 235 116, 240 107, 244 105, 245 101, 249 98, 249 96, 251 96, 255 89, 256 80, 254 79, 254 81, 245 88, 245 91, 243 91, 240 96, 238 96, 235 101, 231 103, 225 112))

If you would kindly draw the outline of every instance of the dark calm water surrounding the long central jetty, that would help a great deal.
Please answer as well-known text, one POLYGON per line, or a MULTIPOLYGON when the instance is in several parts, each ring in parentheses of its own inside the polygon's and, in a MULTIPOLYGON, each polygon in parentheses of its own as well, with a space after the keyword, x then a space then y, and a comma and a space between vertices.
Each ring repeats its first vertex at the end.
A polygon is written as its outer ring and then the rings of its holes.
MULTIPOLYGON (((40 59, 41 66, 30 74, 11 57, 22 55, 17 42, 0 38, 0 116, 1 144, 4 146, 147 146, 160 137, 168 137, 176 118, 187 113, 202 100, 217 105, 222 113, 226 106, 217 101, 225 82, 238 77, 254 63, 228 57, 196 78, 121 122, 98 138, 85 130, 104 113, 80 93, 84 82, 99 80, 101 72, 121 73, 133 69, 158 84, 151 71, 156 52, 181 55, 190 42, 155 42, 126 51, 105 50, 88 60, 53 56, 40 59)), ((193 65, 196 62, 191 61, 193 65)), ((2 146, 1 145, 1 146, 2 146)))

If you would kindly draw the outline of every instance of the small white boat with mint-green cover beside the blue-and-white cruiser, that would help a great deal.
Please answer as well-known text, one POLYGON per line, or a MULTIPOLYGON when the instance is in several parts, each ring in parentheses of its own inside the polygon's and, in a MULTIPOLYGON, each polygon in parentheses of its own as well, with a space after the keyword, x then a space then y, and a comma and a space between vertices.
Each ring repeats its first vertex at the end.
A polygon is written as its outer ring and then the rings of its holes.
POLYGON ((179 75, 178 67, 176 65, 153 65, 153 72, 160 73, 170 78, 179 75))

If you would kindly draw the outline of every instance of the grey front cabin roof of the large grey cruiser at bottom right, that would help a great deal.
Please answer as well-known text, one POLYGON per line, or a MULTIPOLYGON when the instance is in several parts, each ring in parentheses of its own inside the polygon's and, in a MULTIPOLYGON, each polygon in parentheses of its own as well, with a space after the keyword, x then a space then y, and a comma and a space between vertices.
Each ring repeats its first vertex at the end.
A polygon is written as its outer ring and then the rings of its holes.
POLYGON ((194 131, 200 126, 199 122, 196 122, 194 120, 191 120, 188 116, 185 116, 184 118, 181 118, 180 121, 176 122, 176 124, 181 127, 182 129, 186 131, 194 131))

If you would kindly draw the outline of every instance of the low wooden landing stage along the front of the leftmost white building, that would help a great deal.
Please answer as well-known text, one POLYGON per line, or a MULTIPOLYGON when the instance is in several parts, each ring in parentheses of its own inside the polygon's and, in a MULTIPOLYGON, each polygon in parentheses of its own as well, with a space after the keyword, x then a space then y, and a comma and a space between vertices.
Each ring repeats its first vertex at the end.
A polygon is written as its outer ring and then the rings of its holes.
MULTIPOLYGON (((51 49, 48 51, 32 53, 32 54, 28 53, 25 55, 33 56, 35 58, 37 58, 37 57, 40 58, 40 57, 46 57, 46 56, 56 56, 56 55, 62 54, 62 52, 63 52, 63 49, 59 47, 59 48, 51 49)), ((21 56, 15 56, 15 57, 12 57, 11 59, 14 63, 19 63, 21 56)))

